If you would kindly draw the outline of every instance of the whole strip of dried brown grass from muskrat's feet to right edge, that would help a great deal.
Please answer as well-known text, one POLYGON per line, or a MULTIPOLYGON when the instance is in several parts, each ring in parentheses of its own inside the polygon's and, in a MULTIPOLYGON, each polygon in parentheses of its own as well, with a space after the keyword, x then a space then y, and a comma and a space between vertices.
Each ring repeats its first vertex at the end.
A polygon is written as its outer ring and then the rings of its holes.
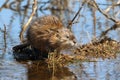
POLYGON ((101 40, 79 46, 72 51, 72 54, 57 54, 52 52, 47 59, 48 63, 65 64, 75 60, 91 60, 93 58, 110 59, 116 58, 120 52, 120 43, 114 40, 101 40), (57 54, 57 55, 56 55, 57 54))

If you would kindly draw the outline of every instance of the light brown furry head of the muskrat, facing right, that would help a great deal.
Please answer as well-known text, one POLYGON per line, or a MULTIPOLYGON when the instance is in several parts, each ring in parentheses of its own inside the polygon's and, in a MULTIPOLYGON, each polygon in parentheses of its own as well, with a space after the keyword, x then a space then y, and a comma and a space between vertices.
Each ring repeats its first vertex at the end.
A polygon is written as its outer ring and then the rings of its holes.
POLYGON ((76 44, 73 33, 67 28, 58 29, 49 39, 52 45, 62 49, 70 48, 76 44))

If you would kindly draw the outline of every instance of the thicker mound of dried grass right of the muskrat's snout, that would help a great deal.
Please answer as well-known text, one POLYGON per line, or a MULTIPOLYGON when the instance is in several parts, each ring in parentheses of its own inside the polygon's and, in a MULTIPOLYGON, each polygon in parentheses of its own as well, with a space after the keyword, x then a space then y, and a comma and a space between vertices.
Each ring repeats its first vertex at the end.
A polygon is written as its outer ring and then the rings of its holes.
POLYGON ((120 43, 116 41, 105 40, 103 42, 86 44, 77 48, 74 53, 78 59, 90 58, 115 58, 116 53, 120 51, 120 43))

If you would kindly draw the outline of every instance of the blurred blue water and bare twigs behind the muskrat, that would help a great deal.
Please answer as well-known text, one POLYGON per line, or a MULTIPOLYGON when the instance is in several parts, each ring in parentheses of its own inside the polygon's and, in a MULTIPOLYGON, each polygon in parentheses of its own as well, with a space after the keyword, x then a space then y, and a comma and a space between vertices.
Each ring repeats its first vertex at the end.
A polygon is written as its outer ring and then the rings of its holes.
MULTIPOLYGON (((20 31, 33 12, 34 1, 0 0, 0 53, 20 43, 20 31)), ((120 41, 119 5, 120 0, 37 0, 32 19, 58 16, 65 27, 72 24, 69 28, 80 44, 104 36, 120 41)))

